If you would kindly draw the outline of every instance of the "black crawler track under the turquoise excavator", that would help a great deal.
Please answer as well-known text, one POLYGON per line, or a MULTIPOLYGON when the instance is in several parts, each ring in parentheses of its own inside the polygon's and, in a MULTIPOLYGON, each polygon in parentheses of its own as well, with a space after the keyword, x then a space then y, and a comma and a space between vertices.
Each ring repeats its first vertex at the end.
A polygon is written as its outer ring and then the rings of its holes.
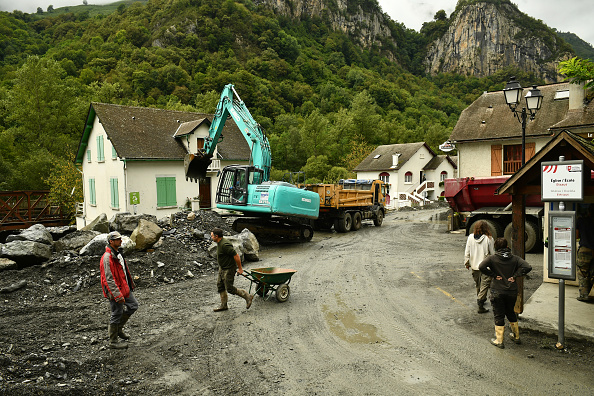
POLYGON ((313 228, 285 218, 240 217, 233 222, 233 230, 247 228, 258 238, 267 240, 308 242, 313 238, 313 228))

